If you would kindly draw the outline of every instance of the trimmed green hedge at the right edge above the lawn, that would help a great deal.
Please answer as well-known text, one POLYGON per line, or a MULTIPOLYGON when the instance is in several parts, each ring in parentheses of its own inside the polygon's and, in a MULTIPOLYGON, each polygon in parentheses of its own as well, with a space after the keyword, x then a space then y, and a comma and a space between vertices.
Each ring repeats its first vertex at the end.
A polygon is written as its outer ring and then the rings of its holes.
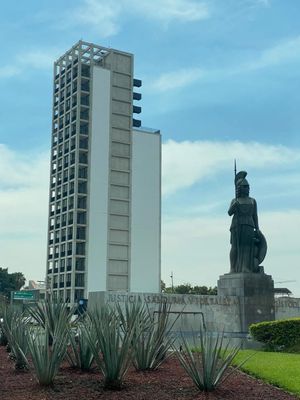
POLYGON ((260 322, 250 326, 252 337, 274 350, 288 349, 300 343, 300 318, 260 322))

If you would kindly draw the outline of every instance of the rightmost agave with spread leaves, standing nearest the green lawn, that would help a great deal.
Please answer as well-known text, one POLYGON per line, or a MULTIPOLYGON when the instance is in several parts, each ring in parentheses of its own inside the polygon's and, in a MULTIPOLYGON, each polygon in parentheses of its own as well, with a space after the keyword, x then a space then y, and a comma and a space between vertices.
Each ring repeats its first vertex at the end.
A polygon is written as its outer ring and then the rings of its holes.
POLYGON ((224 381, 233 369, 229 371, 232 360, 239 352, 240 346, 229 347, 229 341, 223 347, 224 333, 213 336, 212 333, 200 329, 199 335, 193 333, 192 351, 186 338, 181 334, 182 351, 173 346, 177 357, 194 384, 206 392, 214 390, 224 381))

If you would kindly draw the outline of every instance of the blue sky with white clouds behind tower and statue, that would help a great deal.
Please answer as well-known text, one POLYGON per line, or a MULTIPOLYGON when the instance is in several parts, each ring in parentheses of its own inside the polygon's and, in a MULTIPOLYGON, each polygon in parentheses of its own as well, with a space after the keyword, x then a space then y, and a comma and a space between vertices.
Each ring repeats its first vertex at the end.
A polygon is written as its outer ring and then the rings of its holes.
POLYGON ((52 66, 79 39, 135 54, 142 121, 163 137, 162 278, 229 268, 233 159, 249 173, 264 262, 300 296, 298 0, 1 4, 0 265, 43 279, 52 66), (294 282, 296 281, 296 282, 294 282))

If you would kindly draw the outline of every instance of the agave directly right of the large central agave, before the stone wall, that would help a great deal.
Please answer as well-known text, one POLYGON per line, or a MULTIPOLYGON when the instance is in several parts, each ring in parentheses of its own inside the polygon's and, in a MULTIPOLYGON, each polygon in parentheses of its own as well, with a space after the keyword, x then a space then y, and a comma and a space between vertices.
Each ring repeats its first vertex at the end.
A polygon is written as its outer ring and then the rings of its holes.
POLYGON ((173 322, 169 316, 170 306, 160 304, 156 320, 148 310, 147 318, 141 318, 136 324, 133 364, 137 370, 155 370, 170 354, 175 340, 171 330, 179 314, 173 322))

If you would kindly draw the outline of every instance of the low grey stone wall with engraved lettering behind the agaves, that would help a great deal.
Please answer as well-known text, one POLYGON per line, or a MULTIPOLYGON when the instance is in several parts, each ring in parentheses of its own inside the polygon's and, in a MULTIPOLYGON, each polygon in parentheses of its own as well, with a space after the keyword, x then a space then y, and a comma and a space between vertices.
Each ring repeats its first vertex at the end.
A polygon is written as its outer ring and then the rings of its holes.
MULTIPOLYGON (((200 296, 166 293, 91 292, 88 307, 108 303, 125 304, 142 302, 155 312, 160 303, 170 304, 171 319, 177 321, 175 331, 191 332, 200 325, 212 332, 224 331, 227 336, 239 337, 241 333, 241 307, 237 296, 200 296), (179 317, 178 317, 179 315, 179 317)), ((300 317, 300 299, 280 297, 275 299, 275 319, 300 317)))

